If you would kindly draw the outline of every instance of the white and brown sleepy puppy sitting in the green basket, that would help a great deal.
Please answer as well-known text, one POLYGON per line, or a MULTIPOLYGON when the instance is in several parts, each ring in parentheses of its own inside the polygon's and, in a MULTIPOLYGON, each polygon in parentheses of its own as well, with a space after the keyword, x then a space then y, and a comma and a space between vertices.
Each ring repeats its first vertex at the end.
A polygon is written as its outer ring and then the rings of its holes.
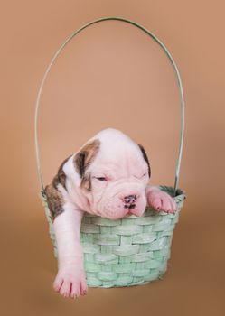
POLYGON ((80 246, 84 211, 110 219, 139 217, 147 204, 175 212, 174 200, 148 185, 150 174, 143 146, 113 128, 99 132, 61 163, 45 188, 58 245, 55 291, 74 298, 87 293, 80 246))

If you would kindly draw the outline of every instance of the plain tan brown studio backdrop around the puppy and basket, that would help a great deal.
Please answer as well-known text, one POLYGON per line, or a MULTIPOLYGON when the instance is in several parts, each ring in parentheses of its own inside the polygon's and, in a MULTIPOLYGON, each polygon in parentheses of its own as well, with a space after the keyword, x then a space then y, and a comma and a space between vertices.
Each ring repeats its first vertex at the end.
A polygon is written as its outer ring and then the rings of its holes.
MULTIPOLYGON (((223 1, 9 1, 1 5, 1 314, 224 315, 223 1), (34 102, 61 42, 81 25, 117 15, 168 47, 183 79, 185 139, 179 187, 187 192, 163 281, 89 289, 78 301, 52 290, 56 261, 38 198, 34 102)), ((143 144, 152 184, 173 185, 179 98, 164 52, 145 33, 102 22, 80 33, 46 82, 40 111, 44 181, 99 130, 143 144)))

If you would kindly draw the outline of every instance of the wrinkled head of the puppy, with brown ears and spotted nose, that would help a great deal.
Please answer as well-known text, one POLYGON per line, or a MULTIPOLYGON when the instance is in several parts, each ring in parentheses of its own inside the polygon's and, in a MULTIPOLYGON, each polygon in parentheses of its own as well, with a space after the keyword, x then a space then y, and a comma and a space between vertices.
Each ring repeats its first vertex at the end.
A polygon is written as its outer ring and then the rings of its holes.
POLYGON ((85 144, 74 164, 91 212, 111 219, 143 214, 151 172, 142 145, 110 128, 85 144))

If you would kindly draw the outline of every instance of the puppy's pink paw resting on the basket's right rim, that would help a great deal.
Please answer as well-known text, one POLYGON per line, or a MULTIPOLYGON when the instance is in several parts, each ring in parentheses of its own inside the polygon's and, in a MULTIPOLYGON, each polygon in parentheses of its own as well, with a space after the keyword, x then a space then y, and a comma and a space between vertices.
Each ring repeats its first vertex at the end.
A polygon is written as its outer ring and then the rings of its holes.
POLYGON ((147 203, 156 210, 163 210, 166 213, 175 213, 177 204, 166 192, 150 185, 146 188, 147 203))

